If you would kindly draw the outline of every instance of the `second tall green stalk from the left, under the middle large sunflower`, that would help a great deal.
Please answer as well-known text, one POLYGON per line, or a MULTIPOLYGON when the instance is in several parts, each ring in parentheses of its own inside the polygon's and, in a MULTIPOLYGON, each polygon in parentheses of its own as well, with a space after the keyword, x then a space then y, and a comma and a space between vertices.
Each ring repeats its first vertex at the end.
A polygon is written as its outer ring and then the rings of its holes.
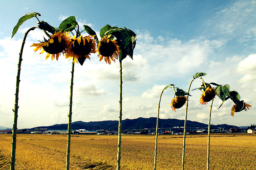
POLYGON ((68 114, 69 122, 68 122, 68 142, 67 142, 66 170, 69 170, 69 165, 70 165, 70 141, 71 141, 74 66, 75 66, 75 63, 74 63, 74 58, 73 58, 72 71, 71 71, 70 97, 69 97, 69 114, 68 114))

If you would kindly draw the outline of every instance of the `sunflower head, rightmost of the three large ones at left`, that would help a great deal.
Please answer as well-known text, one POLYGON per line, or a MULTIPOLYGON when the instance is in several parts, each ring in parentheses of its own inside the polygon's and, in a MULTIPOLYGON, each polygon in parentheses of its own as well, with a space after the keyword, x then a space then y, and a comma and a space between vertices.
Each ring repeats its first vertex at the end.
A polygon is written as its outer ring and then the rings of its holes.
POLYGON ((99 41, 98 48, 96 49, 99 61, 105 57, 105 62, 108 64, 111 63, 111 60, 115 62, 115 59, 118 59, 120 51, 118 45, 116 45, 117 42, 115 40, 110 40, 110 36, 110 34, 108 37, 103 36, 101 41, 99 41))

